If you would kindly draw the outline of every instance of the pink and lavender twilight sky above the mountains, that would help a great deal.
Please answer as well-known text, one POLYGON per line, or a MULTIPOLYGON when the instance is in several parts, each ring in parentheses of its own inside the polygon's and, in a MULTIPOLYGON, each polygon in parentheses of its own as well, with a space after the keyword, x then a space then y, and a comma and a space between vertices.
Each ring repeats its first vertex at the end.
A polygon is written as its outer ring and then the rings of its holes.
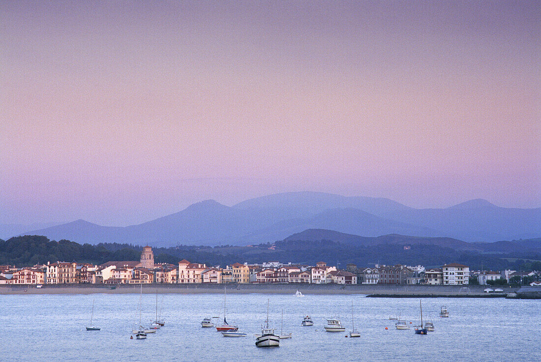
POLYGON ((0 223, 287 191, 541 206, 541 3, 0 3, 0 223))

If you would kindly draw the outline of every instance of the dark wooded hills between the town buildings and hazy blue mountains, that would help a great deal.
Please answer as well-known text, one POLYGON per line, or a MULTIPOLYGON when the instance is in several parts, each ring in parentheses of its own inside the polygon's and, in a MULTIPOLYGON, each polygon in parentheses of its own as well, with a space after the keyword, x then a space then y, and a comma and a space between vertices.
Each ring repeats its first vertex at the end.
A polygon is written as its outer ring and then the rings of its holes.
MULTIPOLYGON (((487 254, 475 251, 457 251, 437 245, 412 245, 404 250, 403 245, 380 244, 358 246, 322 240, 320 242, 287 241, 276 242, 276 250, 269 244, 246 246, 190 246, 153 247, 156 263, 177 264, 187 259, 193 263, 225 267, 233 263, 249 264, 279 260, 282 263, 315 265, 327 262, 341 269, 353 263, 359 267, 374 264, 407 264, 438 267, 445 263, 460 263, 477 270, 541 270, 541 255, 530 254, 529 259, 520 259, 513 254, 487 254), (519 259, 512 259, 512 258, 519 259)), ((140 260, 142 246, 132 244, 103 243, 97 245, 78 244, 69 240, 51 241, 44 236, 21 236, 0 240, 0 264, 32 266, 47 262, 77 262, 103 264, 119 260, 140 260)))

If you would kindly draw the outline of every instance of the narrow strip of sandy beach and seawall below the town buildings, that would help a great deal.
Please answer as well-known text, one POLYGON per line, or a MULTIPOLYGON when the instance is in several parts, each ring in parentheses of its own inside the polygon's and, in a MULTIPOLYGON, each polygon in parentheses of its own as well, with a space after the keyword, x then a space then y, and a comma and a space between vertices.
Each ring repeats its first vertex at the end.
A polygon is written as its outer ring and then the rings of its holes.
MULTIPOLYGON (((300 290, 303 294, 377 294, 379 297, 476 297, 486 296, 483 290, 486 286, 472 285, 464 290, 460 286, 443 285, 315 285, 315 284, 230 284, 227 286, 228 293, 272 293, 272 294, 294 294, 300 290)), ((222 293, 224 285, 143 285, 143 293, 222 293)), ((139 285, 117 285, 111 289, 108 285, 43 285, 36 286, 0 286, 0 294, 126 294, 139 293, 139 285)), ((514 292, 517 288, 505 287, 504 293, 514 292)))

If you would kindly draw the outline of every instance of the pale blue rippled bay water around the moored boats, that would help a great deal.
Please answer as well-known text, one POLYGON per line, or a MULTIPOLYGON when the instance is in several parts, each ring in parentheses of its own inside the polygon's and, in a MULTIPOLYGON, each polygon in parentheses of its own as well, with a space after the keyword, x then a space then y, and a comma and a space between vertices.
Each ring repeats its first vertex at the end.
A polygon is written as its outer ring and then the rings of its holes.
MULTIPOLYGON (((2 359, 29 361, 540 361, 541 303, 536 300, 426 298, 424 315, 432 316, 435 332, 427 336, 394 329, 388 317, 401 312, 419 320, 415 298, 364 298, 360 295, 228 294, 227 320, 248 337, 225 338, 214 328, 201 328, 203 317, 223 316, 223 294, 159 295, 166 326, 147 340, 130 339, 139 320, 138 294, 0 296, 2 359), (254 333, 266 318, 270 299, 272 324, 292 339, 280 347, 255 347, 254 333), (95 299, 94 324, 85 331, 95 299), (355 329, 361 338, 345 338, 355 329), (450 318, 439 318, 447 305, 450 318), (310 314, 315 325, 302 327, 310 314), (341 317, 346 332, 325 332, 327 316, 341 317), (388 327, 388 330, 385 330, 388 327)), ((155 318, 155 296, 143 294, 142 319, 155 318)))

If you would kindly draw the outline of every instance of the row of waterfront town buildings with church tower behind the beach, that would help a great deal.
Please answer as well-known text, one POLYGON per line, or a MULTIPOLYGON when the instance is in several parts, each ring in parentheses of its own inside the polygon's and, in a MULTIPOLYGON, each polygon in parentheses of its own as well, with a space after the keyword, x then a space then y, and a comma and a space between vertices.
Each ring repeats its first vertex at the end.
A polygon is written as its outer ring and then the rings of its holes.
MULTIPOLYGON (((376 265, 346 270, 324 262, 311 265, 235 263, 226 268, 181 260, 174 264, 155 264, 150 246, 145 246, 139 262, 107 262, 102 265, 56 262, 16 269, 0 266, 0 284, 199 284, 199 283, 305 283, 305 284, 425 284, 467 285, 470 276, 479 284, 487 280, 510 280, 523 272, 472 272, 466 265, 451 263, 441 268, 406 265, 376 265)), ((535 275, 536 272, 531 272, 535 275)), ((539 278, 541 279, 541 277, 539 278)))

